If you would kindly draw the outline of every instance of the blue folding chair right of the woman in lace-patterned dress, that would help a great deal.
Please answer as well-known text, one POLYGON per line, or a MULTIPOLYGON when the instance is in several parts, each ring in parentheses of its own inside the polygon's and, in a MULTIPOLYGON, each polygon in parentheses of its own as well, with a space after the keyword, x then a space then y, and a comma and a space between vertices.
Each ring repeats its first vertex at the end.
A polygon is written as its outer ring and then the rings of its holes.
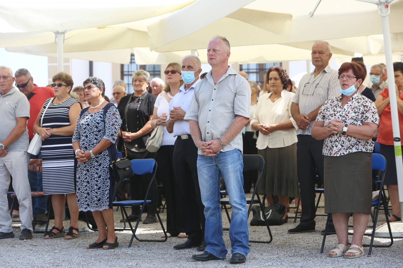
MULTIPOLYGON (((133 238, 136 238, 138 241, 147 241, 147 242, 165 242, 168 239, 168 235, 166 235, 166 231, 164 228, 164 225, 162 224, 161 218, 160 218, 160 214, 158 214, 158 210, 156 209, 156 205, 154 203, 154 201, 151 198, 151 194, 150 194, 150 187, 151 184, 155 178, 155 174, 157 171, 157 162, 154 159, 133 159, 130 160, 131 162, 131 168, 133 169, 133 172, 137 175, 143 175, 143 174, 147 174, 147 173, 152 173, 152 179, 150 180, 150 183, 148 184, 148 188, 147 188, 147 192, 145 193, 145 198, 144 200, 125 200, 125 201, 115 201, 113 202, 113 206, 118 206, 120 208, 123 209, 123 212, 125 213, 127 222, 129 223, 130 229, 133 233, 133 235, 131 236, 130 239, 130 243, 129 243, 129 247, 131 247, 131 243, 133 243, 133 238), (150 199, 147 199, 149 198, 150 199), (165 234, 165 238, 164 239, 160 239, 160 240, 155 240, 155 239, 140 239, 137 237, 136 235, 136 231, 137 231, 137 227, 139 226, 140 223, 140 219, 141 217, 139 217, 139 219, 137 219, 136 222, 136 226, 132 227, 131 222, 129 221, 129 216, 127 216, 127 212, 125 209, 125 206, 141 206, 141 211, 140 211, 140 215, 143 213, 144 207, 145 205, 148 204, 152 204, 152 206, 154 207, 154 210, 157 214, 158 217, 158 221, 160 221, 160 225, 162 227, 162 231, 165 234)), ((123 231, 123 229, 115 229, 116 231, 123 231)))

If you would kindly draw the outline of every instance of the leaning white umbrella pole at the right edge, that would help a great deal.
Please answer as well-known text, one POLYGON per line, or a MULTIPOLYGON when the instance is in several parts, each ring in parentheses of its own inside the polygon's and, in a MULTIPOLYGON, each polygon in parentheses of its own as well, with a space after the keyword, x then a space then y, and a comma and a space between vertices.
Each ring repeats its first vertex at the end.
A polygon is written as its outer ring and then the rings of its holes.
POLYGON ((396 160, 396 171, 397 171, 397 184, 399 188, 399 200, 400 200, 400 211, 403 211, 403 163, 402 163, 402 151, 400 142, 400 129, 399 129, 399 118, 396 102, 396 89, 395 89, 395 74, 393 72, 393 62, 392 62, 392 46, 391 46, 391 34, 389 32, 389 19, 388 14, 390 12, 390 7, 382 4, 378 6, 380 8, 379 14, 382 16, 382 28, 383 28, 383 40, 385 46, 385 57, 386 57, 386 71, 389 77, 389 99, 391 103, 391 114, 392 114, 392 130, 393 130, 393 143, 395 145, 395 160, 396 160))

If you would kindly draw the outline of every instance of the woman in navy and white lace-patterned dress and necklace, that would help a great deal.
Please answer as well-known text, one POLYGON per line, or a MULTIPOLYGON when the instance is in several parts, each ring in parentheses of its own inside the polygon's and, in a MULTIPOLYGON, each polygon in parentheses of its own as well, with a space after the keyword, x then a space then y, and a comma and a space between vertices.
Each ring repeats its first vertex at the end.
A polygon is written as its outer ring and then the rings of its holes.
POLYGON ((114 183, 109 180, 108 150, 112 157, 116 156, 115 142, 122 120, 118 109, 105 101, 105 85, 101 79, 89 77, 83 86, 91 106, 81 111, 73 135, 73 148, 79 162, 77 202, 79 210, 92 212, 98 226, 98 239, 87 248, 112 249, 118 247, 118 240, 114 232, 114 183))

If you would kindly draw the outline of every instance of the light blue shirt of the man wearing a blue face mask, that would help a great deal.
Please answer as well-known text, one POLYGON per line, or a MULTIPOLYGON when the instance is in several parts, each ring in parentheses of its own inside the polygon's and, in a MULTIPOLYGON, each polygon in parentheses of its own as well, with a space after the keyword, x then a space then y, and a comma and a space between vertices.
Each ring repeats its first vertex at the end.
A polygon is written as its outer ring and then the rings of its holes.
MULTIPOLYGON (((172 98, 169 103, 169 110, 172 110, 175 107, 181 106, 183 111, 187 111, 189 108, 190 102, 193 98, 193 93, 195 91, 195 86, 201 81, 201 79, 197 79, 197 81, 187 90, 185 91, 185 84, 179 88, 179 92, 172 98)), ((168 118, 169 120, 169 113, 168 118)), ((183 121, 175 121, 174 122, 174 131, 172 132, 174 137, 179 135, 190 134, 189 122, 186 120, 183 121)))

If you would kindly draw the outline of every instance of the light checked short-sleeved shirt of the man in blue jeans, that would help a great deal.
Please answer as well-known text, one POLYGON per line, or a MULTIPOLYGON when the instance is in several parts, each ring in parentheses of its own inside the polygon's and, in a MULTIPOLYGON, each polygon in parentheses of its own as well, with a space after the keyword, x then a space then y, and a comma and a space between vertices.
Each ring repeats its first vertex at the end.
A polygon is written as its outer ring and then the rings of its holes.
MULTIPOLYGON (((195 87, 192 101, 187 109, 185 120, 199 122, 203 141, 217 140, 231 126, 236 115, 249 118, 251 87, 249 82, 229 67, 227 72, 214 85, 211 72, 208 72, 195 87)), ((241 132, 220 152, 239 149, 242 152, 241 132)), ((199 155, 202 150, 198 150, 199 155)), ((219 153, 219 152, 218 152, 219 153)))

